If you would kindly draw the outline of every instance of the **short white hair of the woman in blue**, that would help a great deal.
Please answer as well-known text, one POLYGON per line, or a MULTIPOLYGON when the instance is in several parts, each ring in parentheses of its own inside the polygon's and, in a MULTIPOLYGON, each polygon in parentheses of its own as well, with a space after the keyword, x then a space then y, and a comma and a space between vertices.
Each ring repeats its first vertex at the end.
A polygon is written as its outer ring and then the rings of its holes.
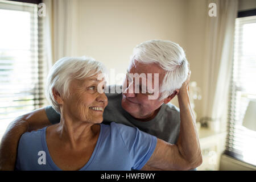
POLYGON ((82 80, 87 77, 106 73, 105 66, 94 60, 92 57, 63 57, 56 61, 48 73, 46 81, 46 98, 58 113, 60 105, 53 97, 53 89, 59 92, 60 96, 69 96, 69 84, 72 80, 82 80))

